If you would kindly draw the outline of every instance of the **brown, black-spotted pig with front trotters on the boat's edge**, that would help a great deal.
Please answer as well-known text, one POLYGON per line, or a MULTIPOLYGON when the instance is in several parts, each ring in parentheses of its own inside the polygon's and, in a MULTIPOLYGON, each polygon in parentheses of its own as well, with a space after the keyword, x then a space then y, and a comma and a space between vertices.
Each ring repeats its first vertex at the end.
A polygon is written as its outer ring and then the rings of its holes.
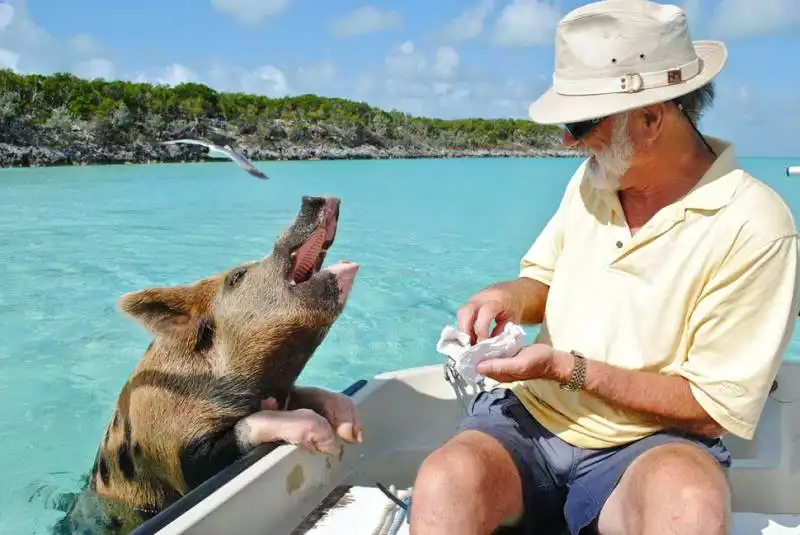
POLYGON ((359 269, 322 269, 339 209, 339 199, 305 196, 265 258, 121 297, 153 340, 57 533, 128 533, 260 444, 336 454, 335 436, 363 440, 349 397, 295 384, 359 269))

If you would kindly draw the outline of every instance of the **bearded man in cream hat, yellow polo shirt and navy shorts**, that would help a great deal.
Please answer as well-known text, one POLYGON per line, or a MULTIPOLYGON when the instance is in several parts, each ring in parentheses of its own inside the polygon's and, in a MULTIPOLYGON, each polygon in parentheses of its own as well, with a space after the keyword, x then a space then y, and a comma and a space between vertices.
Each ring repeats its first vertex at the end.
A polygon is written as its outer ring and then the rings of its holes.
POLYGON ((519 277, 458 312, 474 340, 540 334, 477 367, 501 384, 420 467, 411 533, 727 533, 720 437, 753 437, 791 338, 794 220, 696 130, 727 52, 693 43, 680 8, 588 4, 555 47, 530 115, 588 159, 519 277))

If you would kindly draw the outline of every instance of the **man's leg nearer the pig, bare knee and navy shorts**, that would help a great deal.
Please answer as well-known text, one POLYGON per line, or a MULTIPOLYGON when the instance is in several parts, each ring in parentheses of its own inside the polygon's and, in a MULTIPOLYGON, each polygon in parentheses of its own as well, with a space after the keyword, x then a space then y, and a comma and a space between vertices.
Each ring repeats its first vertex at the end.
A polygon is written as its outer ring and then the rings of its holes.
POLYGON ((412 535, 487 535, 520 522, 558 522, 566 492, 540 446, 541 426, 504 389, 481 394, 460 432, 420 466, 412 535))

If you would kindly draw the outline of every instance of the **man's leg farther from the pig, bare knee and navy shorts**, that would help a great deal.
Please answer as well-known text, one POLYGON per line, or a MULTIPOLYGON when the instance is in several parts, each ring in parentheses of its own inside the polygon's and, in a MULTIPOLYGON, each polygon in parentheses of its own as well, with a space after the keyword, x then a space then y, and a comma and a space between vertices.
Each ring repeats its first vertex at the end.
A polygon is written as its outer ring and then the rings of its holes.
POLYGON ((581 456, 565 506, 572 535, 728 533, 722 441, 663 432, 581 456))

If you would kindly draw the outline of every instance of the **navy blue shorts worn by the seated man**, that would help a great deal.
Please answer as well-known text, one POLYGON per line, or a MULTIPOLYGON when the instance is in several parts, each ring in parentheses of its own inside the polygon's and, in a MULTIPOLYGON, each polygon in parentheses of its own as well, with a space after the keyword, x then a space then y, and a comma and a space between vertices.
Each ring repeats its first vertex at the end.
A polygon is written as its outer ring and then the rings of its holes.
POLYGON ((553 435, 510 391, 482 392, 472 403, 460 430, 486 433, 508 450, 522 480, 524 533, 581 530, 600 514, 623 472, 642 453, 667 443, 690 442, 706 449, 724 468, 731 455, 720 439, 659 432, 608 449, 576 448, 553 435))

